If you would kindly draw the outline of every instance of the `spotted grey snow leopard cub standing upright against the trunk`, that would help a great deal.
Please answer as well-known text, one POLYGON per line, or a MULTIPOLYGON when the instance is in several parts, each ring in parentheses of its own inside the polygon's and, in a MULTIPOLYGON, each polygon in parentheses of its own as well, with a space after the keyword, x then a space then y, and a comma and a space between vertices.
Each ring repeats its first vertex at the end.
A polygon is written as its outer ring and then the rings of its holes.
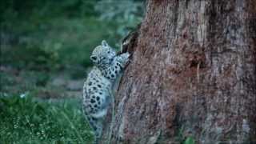
POLYGON ((83 86, 83 111, 94 130, 96 142, 102 134, 102 120, 110 103, 113 102, 112 86, 129 60, 129 53, 117 55, 116 52, 102 41, 90 56, 94 68, 87 76, 83 86))

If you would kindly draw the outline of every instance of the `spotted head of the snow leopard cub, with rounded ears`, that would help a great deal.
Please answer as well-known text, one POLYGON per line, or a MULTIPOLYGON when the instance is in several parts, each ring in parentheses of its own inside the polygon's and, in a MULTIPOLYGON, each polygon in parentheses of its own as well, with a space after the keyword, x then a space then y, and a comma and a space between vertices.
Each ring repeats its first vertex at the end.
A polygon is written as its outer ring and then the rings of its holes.
POLYGON ((110 64, 115 55, 115 51, 103 40, 102 45, 95 47, 90 60, 96 65, 110 64))

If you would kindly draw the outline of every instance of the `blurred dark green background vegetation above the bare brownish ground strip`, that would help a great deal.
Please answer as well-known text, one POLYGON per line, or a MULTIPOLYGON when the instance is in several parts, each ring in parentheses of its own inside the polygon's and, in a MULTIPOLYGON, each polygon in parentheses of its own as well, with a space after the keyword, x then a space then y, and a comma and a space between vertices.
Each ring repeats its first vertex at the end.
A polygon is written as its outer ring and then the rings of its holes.
POLYGON ((84 72, 102 39, 118 46, 142 19, 142 2, 128 0, 8 0, 0 6, 1 65, 28 70, 84 72))

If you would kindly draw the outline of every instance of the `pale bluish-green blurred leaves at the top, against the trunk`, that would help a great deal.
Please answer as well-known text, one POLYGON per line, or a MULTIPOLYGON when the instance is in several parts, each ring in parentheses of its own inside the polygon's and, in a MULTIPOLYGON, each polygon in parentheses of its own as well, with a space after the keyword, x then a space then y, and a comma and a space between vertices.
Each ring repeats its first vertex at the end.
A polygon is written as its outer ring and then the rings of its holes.
POLYGON ((141 1, 105 0, 99 1, 95 5, 95 10, 99 12, 102 22, 117 24, 117 30, 110 31, 110 35, 124 37, 142 21, 144 5, 141 1))

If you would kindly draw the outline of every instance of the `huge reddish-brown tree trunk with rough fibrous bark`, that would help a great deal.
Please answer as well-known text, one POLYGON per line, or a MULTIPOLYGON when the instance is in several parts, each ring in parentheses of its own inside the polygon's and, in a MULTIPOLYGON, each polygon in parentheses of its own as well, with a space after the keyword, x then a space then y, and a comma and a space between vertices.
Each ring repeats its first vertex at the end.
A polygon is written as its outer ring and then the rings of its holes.
POLYGON ((146 8, 111 143, 256 142, 256 1, 149 0, 146 8))

